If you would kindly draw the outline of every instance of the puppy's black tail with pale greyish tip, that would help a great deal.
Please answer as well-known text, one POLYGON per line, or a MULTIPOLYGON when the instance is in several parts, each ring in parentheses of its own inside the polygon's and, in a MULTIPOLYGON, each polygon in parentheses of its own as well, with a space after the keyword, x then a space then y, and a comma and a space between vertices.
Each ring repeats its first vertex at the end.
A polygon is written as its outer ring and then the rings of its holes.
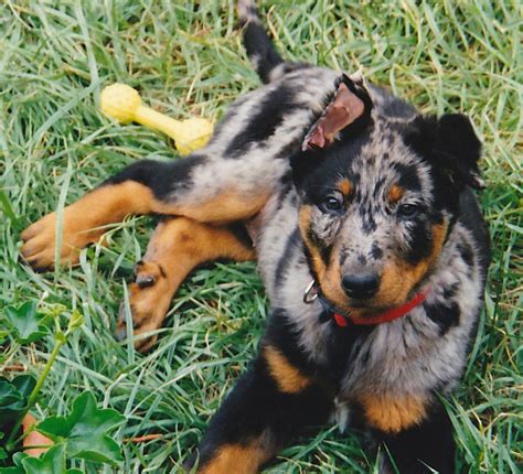
POLYGON ((238 1, 239 26, 244 28, 244 44, 247 56, 262 80, 267 84, 293 69, 293 63, 285 63, 277 53, 262 25, 253 0, 238 1), (277 71, 276 67, 282 65, 277 71), (279 73, 279 74, 278 74, 279 73))

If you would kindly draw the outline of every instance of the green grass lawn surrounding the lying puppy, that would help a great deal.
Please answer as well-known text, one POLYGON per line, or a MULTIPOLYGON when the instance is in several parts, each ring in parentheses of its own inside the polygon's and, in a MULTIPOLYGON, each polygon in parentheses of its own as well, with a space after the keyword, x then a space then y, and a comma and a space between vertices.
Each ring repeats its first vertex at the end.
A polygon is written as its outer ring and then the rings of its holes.
MULTIPOLYGON (((471 116, 484 143, 482 194, 493 262, 485 312, 463 384, 451 400, 460 472, 519 472, 522 455, 522 9, 517 1, 265 2, 287 57, 353 71, 426 112, 471 116)), ((86 389, 128 417, 120 472, 177 472, 255 353, 267 300, 255 266, 195 272, 160 344, 136 354, 113 338, 125 281, 147 245, 149 218, 128 218, 74 269, 19 265, 19 233, 139 159, 177 159, 166 137, 118 126, 98 109, 125 82, 172 117, 218 119, 259 83, 235 30, 232 1, 7 1, 0 6, 0 310, 35 299, 78 309, 85 327, 63 348, 38 412, 64 413, 86 389)), ((52 341, 15 354, 39 373, 52 341)), ((0 367, 1 368, 1 367, 0 367)), ((38 413, 36 413, 38 414, 38 413)), ((327 427, 287 449, 268 472, 367 473, 356 433, 327 427)), ((96 472, 93 465, 81 465, 96 472)), ((113 472, 105 468, 104 472, 113 472)))

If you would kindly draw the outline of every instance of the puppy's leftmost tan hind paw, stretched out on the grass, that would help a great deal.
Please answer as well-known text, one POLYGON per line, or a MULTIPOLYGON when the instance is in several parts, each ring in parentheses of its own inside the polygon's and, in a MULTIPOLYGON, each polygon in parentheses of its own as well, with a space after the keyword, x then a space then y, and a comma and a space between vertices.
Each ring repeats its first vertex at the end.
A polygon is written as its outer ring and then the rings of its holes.
MULTIPOLYGON (((77 263, 82 248, 99 239, 104 230, 87 229, 86 216, 77 215, 73 209, 65 209, 63 217, 62 245, 60 261, 77 263)), ((56 213, 47 214, 29 226, 21 234, 23 241, 20 249, 22 258, 38 271, 49 270, 55 263, 56 213)))

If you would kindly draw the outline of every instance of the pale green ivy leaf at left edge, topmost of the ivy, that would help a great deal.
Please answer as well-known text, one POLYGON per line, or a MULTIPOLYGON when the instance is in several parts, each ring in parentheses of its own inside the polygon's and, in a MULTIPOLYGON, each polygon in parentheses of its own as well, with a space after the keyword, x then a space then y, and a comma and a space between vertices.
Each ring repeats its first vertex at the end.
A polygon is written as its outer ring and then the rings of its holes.
POLYGON ((36 312, 34 301, 25 301, 20 306, 8 306, 4 314, 20 344, 32 343, 49 334, 50 317, 36 312))

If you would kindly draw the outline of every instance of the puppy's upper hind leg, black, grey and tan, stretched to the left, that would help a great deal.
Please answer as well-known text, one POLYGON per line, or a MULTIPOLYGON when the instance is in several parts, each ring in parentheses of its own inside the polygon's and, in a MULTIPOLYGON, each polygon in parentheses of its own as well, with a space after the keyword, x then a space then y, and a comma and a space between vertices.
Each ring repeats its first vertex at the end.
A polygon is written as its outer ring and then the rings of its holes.
MULTIPOLYGON (((256 214, 271 192, 273 176, 264 176, 264 182, 249 180, 250 170, 241 161, 235 163, 236 173, 223 169, 223 160, 196 154, 168 163, 143 160, 131 164, 65 207, 61 261, 76 263, 83 247, 129 214, 177 215, 212 224, 256 214)), ((57 222, 56 213, 47 214, 21 235, 21 254, 35 269, 54 265, 57 222)))

